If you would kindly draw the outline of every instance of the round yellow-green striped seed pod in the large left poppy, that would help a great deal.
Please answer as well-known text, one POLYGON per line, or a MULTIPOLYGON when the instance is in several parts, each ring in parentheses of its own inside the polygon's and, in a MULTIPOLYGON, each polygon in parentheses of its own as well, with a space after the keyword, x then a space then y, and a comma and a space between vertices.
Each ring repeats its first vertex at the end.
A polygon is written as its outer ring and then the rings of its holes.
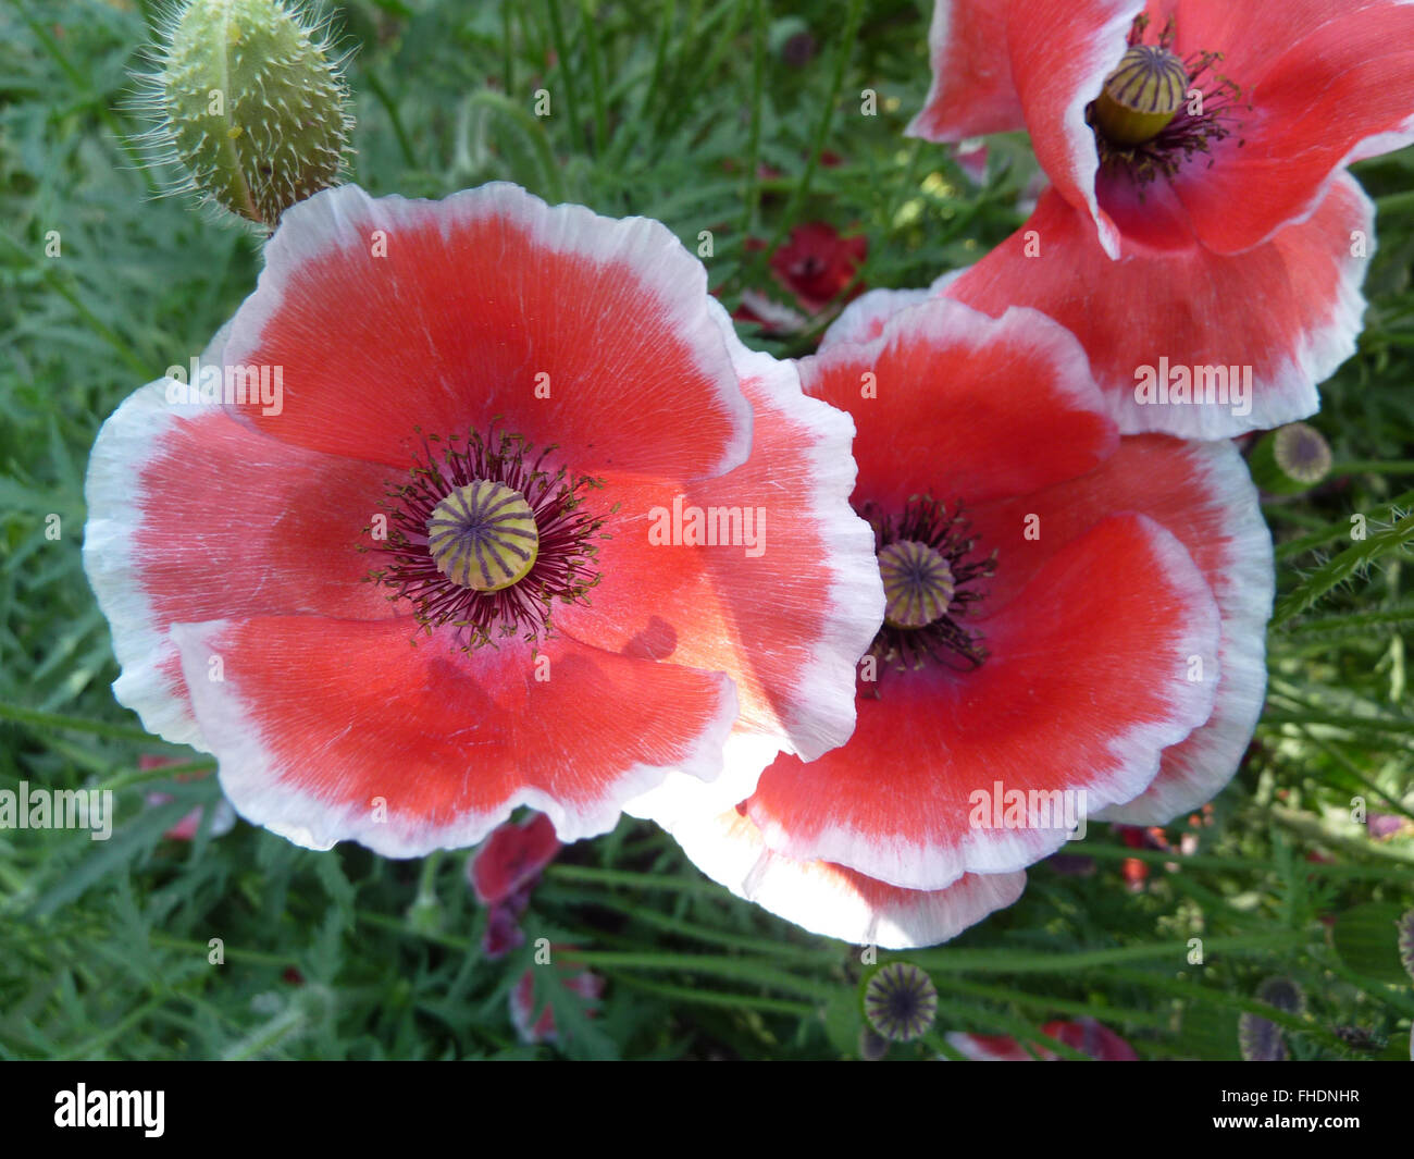
POLYGON ((427 552, 452 583, 501 592, 534 567, 540 532, 525 495, 485 478, 458 487, 427 521, 427 552))

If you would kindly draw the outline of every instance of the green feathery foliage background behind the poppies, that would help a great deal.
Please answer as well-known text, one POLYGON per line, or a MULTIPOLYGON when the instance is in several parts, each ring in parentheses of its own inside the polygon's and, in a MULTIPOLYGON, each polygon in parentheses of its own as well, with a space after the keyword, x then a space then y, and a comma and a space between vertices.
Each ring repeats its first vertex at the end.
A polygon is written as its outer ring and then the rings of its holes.
MULTIPOLYGON (((312 853, 245 824, 163 838, 218 790, 137 768, 143 754, 192 753, 113 702, 107 625, 79 566, 83 470, 116 405, 199 352, 250 292, 260 241, 156 198, 157 177, 136 164, 143 126, 124 96, 153 7, 0 0, 0 788, 109 787, 119 817, 106 843, 0 831, 0 1056, 855 1056, 858 950, 737 901, 649 825, 566 849, 533 896, 529 937, 575 947, 607 979, 588 1017, 556 971, 537 974, 567 1032, 554 1047, 516 1039, 506 996, 530 945, 481 955, 464 853, 312 853), (58 259, 44 256, 51 229, 58 259), (49 514, 58 541, 44 535, 49 514), (151 808, 157 778, 175 801, 151 808), (222 967, 208 964, 211 937, 222 967)), ((512 180, 659 218, 691 249, 711 229, 711 284, 732 304, 748 287, 789 301, 766 260, 805 221, 863 233, 870 286, 922 286, 1014 229, 1034 174, 1024 142, 1003 140, 976 188, 945 149, 902 137, 928 88, 928 7, 339 4, 356 50, 349 175, 428 197, 512 180), (532 115, 539 88, 550 117, 532 115), (865 88, 877 116, 861 115, 865 88)), ((1093 1015, 1144 1057, 1230 1059, 1249 1013, 1277 1022, 1295 1057, 1407 1057, 1414 995, 1379 930, 1393 944, 1387 907, 1414 904, 1414 153, 1359 175, 1380 205, 1372 307, 1314 420, 1335 474, 1267 505, 1278 616, 1257 740, 1198 852, 1131 849, 1094 825, 1068 849, 1092 859, 1089 876, 1036 866, 1015 907, 901 955, 933 975, 937 1032, 1041 1042, 1042 1023, 1093 1015), (1352 545, 1355 512, 1372 536, 1352 545), (1367 836, 1350 821, 1357 795, 1404 832, 1367 836), (1147 877, 1130 889, 1135 862, 1147 877), (1373 941, 1357 937, 1366 927, 1373 941), (1188 962, 1191 937, 1203 965, 1188 962), (1301 985, 1304 1012, 1257 999, 1271 975, 1301 985)), ((796 355, 827 317, 785 338, 742 333, 796 355)), ((952 1051, 935 1033, 891 1057, 939 1053, 952 1051)))

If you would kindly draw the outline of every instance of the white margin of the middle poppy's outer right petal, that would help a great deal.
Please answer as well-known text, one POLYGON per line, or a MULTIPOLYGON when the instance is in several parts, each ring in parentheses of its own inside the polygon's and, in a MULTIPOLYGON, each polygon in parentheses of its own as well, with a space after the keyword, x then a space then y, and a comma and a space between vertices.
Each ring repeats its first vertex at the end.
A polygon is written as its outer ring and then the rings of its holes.
POLYGON ((1210 801, 1236 774, 1267 691, 1275 563, 1257 487, 1230 442, 1189 443, 1186 450, 1226 558, 1217 575, 1208 575, 1222 617, 1217 698, 1208 723, 1164 750, 1154 784, 1131 801, 1099 809, 1100 821, 1165 825, 1210 801))

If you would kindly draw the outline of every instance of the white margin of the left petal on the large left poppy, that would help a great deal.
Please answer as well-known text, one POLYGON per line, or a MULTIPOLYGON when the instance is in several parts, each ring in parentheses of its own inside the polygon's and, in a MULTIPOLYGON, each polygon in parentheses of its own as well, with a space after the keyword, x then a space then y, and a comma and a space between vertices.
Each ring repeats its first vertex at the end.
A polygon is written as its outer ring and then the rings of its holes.
POLYGON ((163 672, 164 664, 175 671, 177 650, 157 624, 134 558, 144 502, 136 481, 143 464, 184 412, 197 416, 211 409, 201 403, 170 406, 168 386, 182 384, 163 378, 133 392, 98 433, 83 483, 83 572, 112 627, 113 655, 123 669, 113 682, 113 696, 137 713, 147 732, 205 753, 209 749, 191 705, 163 672))

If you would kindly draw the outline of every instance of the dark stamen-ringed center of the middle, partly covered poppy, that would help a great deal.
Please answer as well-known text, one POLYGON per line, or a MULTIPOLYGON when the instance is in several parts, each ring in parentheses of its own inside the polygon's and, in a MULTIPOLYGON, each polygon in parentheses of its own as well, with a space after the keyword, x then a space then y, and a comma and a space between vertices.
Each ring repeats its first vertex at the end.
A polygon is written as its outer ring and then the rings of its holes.
POLYGON ((860 514, 874 528, 885 600, 884 625, 870 655, 899 671, 930 662, 980 668, 987 650, 960 621, 981 599, 967 584, 995 570, 995 552, 973 559, 976 539, 967 521, 932 495, 911 498, 896 517, 874 504, 864 504, 860 514))

